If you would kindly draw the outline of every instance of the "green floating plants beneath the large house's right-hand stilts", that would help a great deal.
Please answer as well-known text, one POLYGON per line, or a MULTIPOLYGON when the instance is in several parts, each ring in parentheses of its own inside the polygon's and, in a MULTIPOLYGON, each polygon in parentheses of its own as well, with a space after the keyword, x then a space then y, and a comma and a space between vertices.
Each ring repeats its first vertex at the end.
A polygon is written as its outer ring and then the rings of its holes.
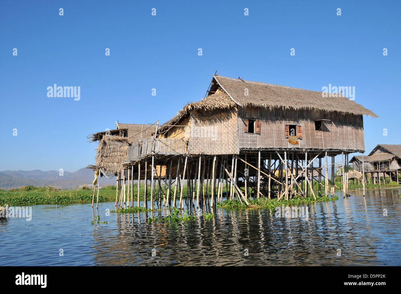
MULTIPOLYGON (((248 199, 248 203, 250 205, 249 208, 275 208, 277 206, 281 205, 299 205, 299 204, 306 204, 306 203, 314 203, 314 202, 321 202, 321 201, 332 201, 332 200, 338 200, 338 196, 335 197, 326 197, 326 196, 320 196, 316 197, 297 197, 297 198, 292 198, 292 199, 280 199, 277 200, 277 198, 273 199, 268 199, 268 198, 260 198, 260 199, 248 199)), ((247 208, 247 205, 245 203, 239 202, 239 200, 234 199, 234 200, 225 200, 222 203, 217 203, 217 206, 219 207, 229 207, 229 208, 247 208)))

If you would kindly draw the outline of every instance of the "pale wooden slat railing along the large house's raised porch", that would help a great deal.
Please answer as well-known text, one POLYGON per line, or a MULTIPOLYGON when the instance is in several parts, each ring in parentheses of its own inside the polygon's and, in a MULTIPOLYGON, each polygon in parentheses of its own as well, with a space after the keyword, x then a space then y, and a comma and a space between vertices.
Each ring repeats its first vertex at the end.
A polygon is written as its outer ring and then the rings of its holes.
POLYGON ((139 160, 147 155, 186 154, 187 141, 182 138, 145 138, 128 146, 128 160, 139 160))

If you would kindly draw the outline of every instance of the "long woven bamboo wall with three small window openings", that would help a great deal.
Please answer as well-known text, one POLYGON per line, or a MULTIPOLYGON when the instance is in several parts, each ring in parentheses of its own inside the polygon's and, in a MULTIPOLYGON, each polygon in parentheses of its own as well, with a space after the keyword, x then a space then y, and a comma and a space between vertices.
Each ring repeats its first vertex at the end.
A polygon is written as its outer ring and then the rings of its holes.
POLYGON ((322 148, 364 150, 363 117, 334 112, 312 110, 262 109, 246 107, 238 113, 239 148, 322 148), (261 133, 244 132, 244 119, 261 120, 261 133), (315 130, 315 120, 322 122, 324 131, 315 130), (288 142, 285 125, 302 126, 302 139, 298 144, 288 142))

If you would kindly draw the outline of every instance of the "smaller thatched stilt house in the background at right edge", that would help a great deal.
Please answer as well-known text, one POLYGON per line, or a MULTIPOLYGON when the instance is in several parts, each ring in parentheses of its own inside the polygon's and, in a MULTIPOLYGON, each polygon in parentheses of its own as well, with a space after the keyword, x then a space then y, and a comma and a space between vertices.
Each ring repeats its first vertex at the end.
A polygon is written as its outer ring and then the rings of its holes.
POLYGON ((371 181, 381 185, 382 178, 386 183, 386 178, 399 182, 399 171, 401 171, 401 145, 379 144, 369 156, 365 156, 362 164, 362 156, 354 156, 350 162, 354 169, 369 175, 371 181))

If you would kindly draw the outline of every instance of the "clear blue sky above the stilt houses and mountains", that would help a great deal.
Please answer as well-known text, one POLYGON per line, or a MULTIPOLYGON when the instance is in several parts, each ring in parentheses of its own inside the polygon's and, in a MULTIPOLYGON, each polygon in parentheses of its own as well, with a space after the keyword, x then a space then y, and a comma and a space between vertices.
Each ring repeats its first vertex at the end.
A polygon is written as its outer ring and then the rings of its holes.
POLYGON ((400 144, 400 8, 399 1, 2 0, 0 170, 93 164, 97 145, 87 134, 117 120, 165 122, 204 97, 216 70, 315 91, 355 86, 355 102, 380 116, 364 117, 365 150, 400 144), (47 97, 55 83, 80 86, 80 100, 47 97))

